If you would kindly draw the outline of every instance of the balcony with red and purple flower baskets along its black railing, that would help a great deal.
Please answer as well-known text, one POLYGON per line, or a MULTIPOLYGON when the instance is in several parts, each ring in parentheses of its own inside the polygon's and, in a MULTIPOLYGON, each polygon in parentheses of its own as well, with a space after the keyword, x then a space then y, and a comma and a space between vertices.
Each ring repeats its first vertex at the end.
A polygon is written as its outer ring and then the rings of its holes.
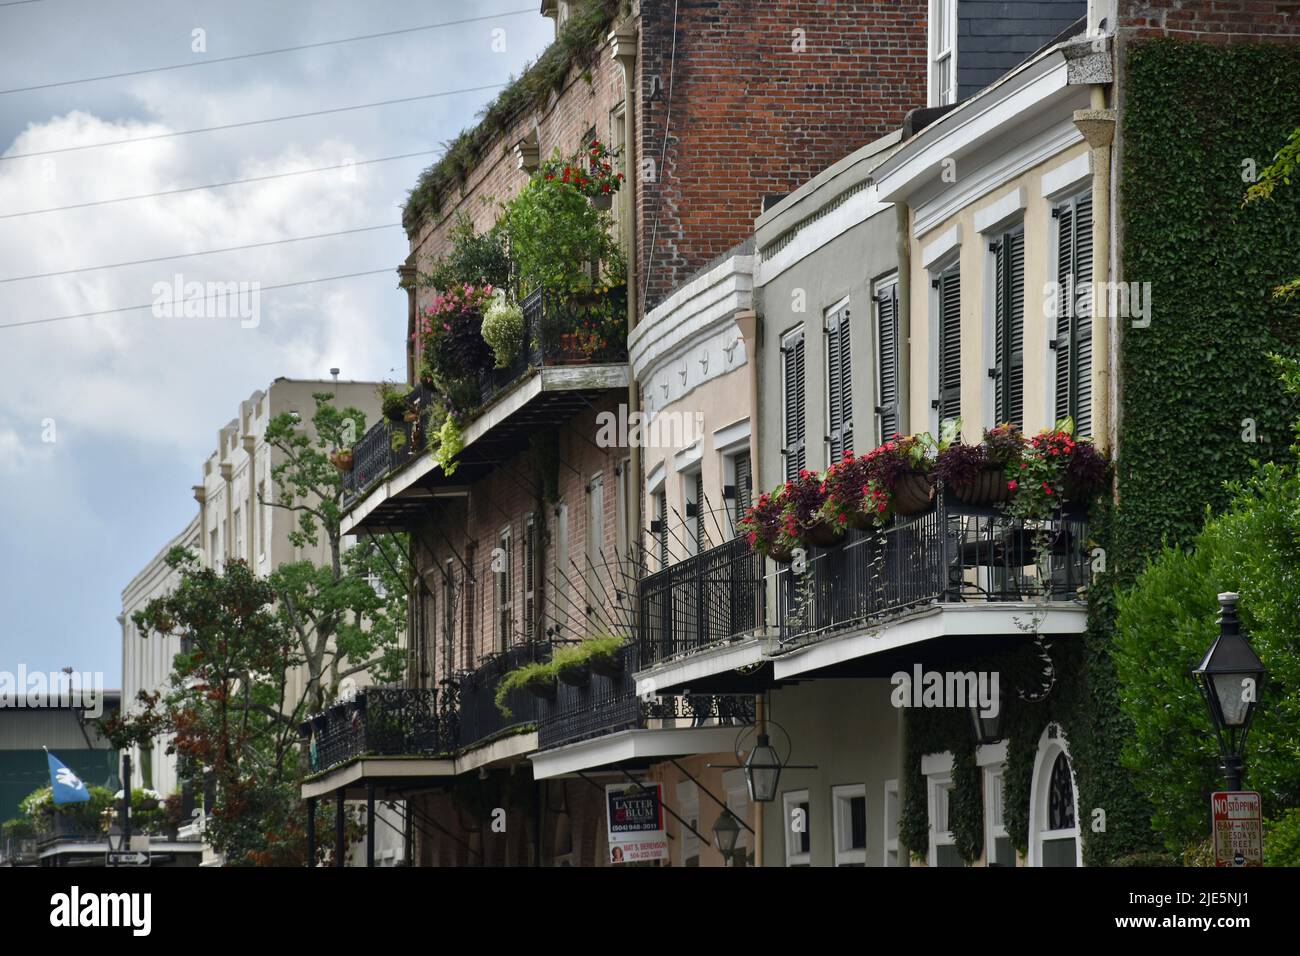
POLYGON ((852 658, 842 644, 807 653, 842 637, 874 640, 875 653, 948 633, 1082 631, 1097 561, 1088 512, 1109 462, 1069 420, 1032 437, 989 428, 978 444, 959 432, 896 436, 749 510, 742 533, 776 564, 771 679, 852 658))

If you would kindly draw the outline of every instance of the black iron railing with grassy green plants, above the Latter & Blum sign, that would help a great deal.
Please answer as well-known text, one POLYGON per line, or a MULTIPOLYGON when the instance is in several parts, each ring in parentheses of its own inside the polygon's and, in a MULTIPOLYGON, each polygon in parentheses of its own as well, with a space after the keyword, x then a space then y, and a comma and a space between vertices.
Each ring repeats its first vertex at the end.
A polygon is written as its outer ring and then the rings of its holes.
POLYGON ((542 702, 537 724, 540 749, 646 727, 650 721, 689 721, 689 726, 754 723, 751 695, 637 696, 633 674, 641 667, 636 644, 624 648, 616 678, 592 674, 585 687, 559 684, 554 701, 542 702))

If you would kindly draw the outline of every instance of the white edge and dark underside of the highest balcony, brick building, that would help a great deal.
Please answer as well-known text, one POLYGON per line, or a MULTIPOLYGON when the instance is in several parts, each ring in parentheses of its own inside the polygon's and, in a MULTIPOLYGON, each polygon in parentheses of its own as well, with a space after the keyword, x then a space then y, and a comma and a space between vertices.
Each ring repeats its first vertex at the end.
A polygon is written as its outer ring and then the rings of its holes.
MULTIPOLYGON (((377 483, 344 515, 343 533, 407 529, 430 499, 473 485, 528 450, 529 440, 589 411, 611 390, 627 389, 625 364, 547 367, 506 393, 465 428, 455 473, 420 454, 377 483)), ((595 441, 595 436, 582 436, 595 441)))

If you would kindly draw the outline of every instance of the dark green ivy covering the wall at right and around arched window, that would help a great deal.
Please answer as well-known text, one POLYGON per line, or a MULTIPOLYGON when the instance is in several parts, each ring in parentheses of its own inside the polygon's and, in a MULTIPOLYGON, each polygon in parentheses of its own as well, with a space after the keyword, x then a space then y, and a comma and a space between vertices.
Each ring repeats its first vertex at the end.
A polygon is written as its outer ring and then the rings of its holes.
MULTIPOLYGON (((1275 285, 1300 274, 1300 183, 1248 209, 1242 198, 1252 170, 1266 166, 1300 125, 1297 57, 1295 47, 1260 44, 1156 39, 1126 47, 1121 278, 1150 284, 1150 323, 1135 328, 1121 320, 1118 503, 1092 515, 1105 570, 1089 589, 1088 631, 1050 649, 1067 679, 1043 701, 1013 700, 1006 710, 1006 822, 1020 852, 1028 845, 1039 735, 1054 721, 1078 780, 1084 864, 1164 861, 1150 805, 1119 763, 1131 726, 1119 710, 1110 658, 1114 594, 1164 541, 1188 542, 1206 509, 1226 503, 1223 483, 1245 477, 1251 459, 1287 451, 1297 410, 1265 356, 1300 354, 1295 303, 1271 297, 1275 285)), ((901 835, 923 853, 920 754, 952 749, 959 762, 970 731, 958 726, 963 715, 907 717, 901 835)), ((954 780, 958 788, 978 787, 978 775, 954 780)), ((953 827, 967 858, 979 856, 978 808, 978 792, 954 793, 953 827)))

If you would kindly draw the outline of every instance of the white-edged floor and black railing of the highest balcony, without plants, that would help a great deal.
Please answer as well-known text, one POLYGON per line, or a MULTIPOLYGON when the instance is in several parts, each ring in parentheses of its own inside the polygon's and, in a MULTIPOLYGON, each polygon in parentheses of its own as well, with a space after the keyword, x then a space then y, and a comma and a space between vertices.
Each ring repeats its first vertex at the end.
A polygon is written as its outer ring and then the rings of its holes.
MULTIPOLYGON (((520 304, 528 345, 507 368, 478 375, 481 405, 464 427, 465 451, 455 475, 445 475, 424 454, 424 436, 412 437, 410 425, 406 446, 394 453, 387 423, 376 424, 354 446, 352 471, 344 479, 344 533, 404 529, 439 489, 473 484, 525 450, 540 431, 588 411, 610 390, 628 388, 625 339, 585 350, 573 332, 592 303, 533 293, 520 304)), ((599 308, 612 315, 625 304, 627 290, 620 286, 601 298, 599 308)), ((417 393, 425 401, 430 395, 424 386, 417 393)))

